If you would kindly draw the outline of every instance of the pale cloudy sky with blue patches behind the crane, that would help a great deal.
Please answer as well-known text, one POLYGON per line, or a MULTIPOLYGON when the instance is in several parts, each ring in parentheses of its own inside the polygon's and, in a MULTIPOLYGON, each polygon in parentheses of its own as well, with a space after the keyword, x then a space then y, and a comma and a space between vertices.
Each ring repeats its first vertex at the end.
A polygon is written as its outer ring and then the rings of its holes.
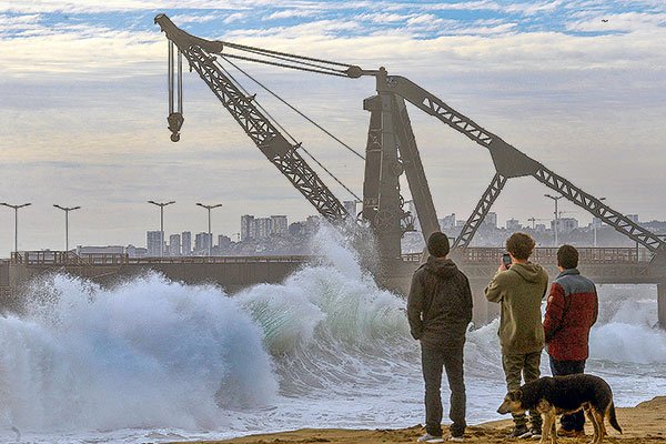
MULTIPOLYGON (((662 0, 204 1, 0 0, 0 202, 19 212, 19 250, 145 245, 208 230, 196 202, 221 203, 212 231, 235 240, 242 214, 314 209, 270 164, 206 84, 184 73, 181 141, 167 130, 167 13, 188 32, 364 69, 385 67, 437 95, 625 214, 666 220, 666 3, 662 0), (178 8, 174 8, 178 4, 178 8)), ((363 152, 371 78, 243 63, 261 82, 363 152)), ((241 84, 356 194, 363 161, 246 78, 241 84)), ((408 108, 440 218, 466 219, 494 168, 476 145, 408 108)), ((316 165, 340 200, 352 196, 316 165)), ((403 186, 408 200, 408 190, 403 186)), ((498 221, 551 219, 548 189, 509 180, 498 221)), ((566 200, 563 216, 591 215, 566 200)), ((0 208, 0 256, 13 249, 0 208)))

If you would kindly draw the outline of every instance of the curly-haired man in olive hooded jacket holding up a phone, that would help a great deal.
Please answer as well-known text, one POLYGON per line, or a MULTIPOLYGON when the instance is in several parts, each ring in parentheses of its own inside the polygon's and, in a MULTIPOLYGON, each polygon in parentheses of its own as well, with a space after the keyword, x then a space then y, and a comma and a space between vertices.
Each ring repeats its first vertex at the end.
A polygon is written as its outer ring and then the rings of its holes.
MULTIPOLYGON (((485 289, 486 299, 502 304, 500 317, 500 343, 502 366, 507 390, 521 387, 541 376, 541 353, 544 347, 544 329, 541 319, 542 299, 548 290, 548 274, 537 264, 529 262, 534 240, 525 233, 514 233, 506 241, 511 255, 507 269, 504 262, 495 278, 485 289)), ((542 418, 538 412, 529 412, 532 430, 527 428, 525 414, 514 415, 512 437, 539 436, 542 418)))

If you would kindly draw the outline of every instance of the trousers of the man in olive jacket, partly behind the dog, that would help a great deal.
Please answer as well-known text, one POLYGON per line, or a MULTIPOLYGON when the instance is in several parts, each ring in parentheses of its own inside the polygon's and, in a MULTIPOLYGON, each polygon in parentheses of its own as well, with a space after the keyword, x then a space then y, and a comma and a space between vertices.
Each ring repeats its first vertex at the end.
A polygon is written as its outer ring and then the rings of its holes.
MULTIPOLYGON (((506 377, 506 389, 508 391, 521 389, 521 381, 525 383, 538 380, 541 376, 541 351, 524 354, 503 354, 502 366, 504 367, 504 376, 506 377)), ((527 425, 525 414, 513 415, 516 428, 527 425)), ((532 428, 541 430, 542 417, 537 411, 529 411, 529 422, 532 428)))

